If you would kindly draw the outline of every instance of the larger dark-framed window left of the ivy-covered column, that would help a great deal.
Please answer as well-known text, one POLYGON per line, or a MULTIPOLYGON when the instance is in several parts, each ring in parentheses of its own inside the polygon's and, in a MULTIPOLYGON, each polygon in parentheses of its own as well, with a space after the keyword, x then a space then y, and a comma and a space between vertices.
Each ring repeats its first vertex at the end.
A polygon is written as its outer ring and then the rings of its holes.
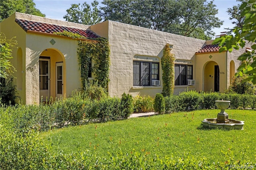
POLYGON ((159 80, 159 63, 133 61, 133 86, 152 86, 159 80))

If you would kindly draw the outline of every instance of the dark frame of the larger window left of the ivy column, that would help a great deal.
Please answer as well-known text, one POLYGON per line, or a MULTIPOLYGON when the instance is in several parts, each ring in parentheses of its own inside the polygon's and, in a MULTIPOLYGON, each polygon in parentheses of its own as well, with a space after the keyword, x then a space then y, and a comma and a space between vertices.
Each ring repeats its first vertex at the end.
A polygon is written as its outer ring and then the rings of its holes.
MULTIPOLYGON (((159 80, 160 79, 160 76, 159 76, 159 73, 160 73, 160 69, 159 69, 159 66, 160 66, 160 63, 159 62, 151 62, 151 61, 137 61, 137 60, 133 60, 133 86, 136 86, 136 87, 142 87, 142 86, 152 86, 152 80, 159 80), (139 63, 139 85, 134 85, 134 63, 139 63), (145 75, 143 75, 145 73, 144 71, 144 65, 143 64, 149 64, 149 73, 148 73, 148 84, 143 84, 143 80, 145 78, 145 75), (152 64, 156 64, 157 65, 157 74, 155 73, 154 71, 154 74, 152 74, 152 64), (157 76, 157 79, 155 78, 152 78, 152 75, 154 76, 157 76)), ((154 66, 155 67, 155 66, 154 66)), ((155 70, 156 68, 154 68, 155 70)), ((137 80, 138 81, 138 80, 137 80)))

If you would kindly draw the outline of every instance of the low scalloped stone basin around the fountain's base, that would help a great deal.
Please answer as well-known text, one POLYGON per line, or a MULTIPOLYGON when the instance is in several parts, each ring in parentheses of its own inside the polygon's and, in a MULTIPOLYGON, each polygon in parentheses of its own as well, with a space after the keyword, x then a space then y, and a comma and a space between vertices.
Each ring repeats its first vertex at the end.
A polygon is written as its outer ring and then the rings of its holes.
POLYGON ((217 118, 214 119, 204 119, 202 121, 203 127, 207 128, 226 128, 226 129, 244 129, 244 121, 237 121, 235 119, 228 119, 228 123, 217 123, 217 118))

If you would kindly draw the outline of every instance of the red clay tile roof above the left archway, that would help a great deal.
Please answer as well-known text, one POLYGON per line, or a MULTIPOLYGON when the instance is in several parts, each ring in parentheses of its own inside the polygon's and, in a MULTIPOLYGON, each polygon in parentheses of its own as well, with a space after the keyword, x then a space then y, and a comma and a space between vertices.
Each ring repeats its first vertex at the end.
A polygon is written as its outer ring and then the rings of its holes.
POLYGON ((46 24, 42 22, 34 22, 22 19, 16 19, 15 22, 17 22, 25 31, 30 30, 53 34, 53 32, 63 32, 64 30, 66 30, 68 32, 77 33, 81 36, 85 36, 89 39, 100 37, 90 30, 81 30, 77 28, 70 28, 65 26, 58 26, 53 24, 46 24))

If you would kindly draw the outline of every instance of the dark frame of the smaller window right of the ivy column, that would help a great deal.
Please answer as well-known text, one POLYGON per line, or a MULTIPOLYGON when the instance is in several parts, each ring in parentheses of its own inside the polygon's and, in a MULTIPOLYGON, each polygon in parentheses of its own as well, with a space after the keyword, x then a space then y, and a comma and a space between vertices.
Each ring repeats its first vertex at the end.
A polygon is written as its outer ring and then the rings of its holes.
MULTIPOLYGON (((175 64, 174 65, 174 70, 175 70, 175 67, 179 67, 179 75, 177 77, 177 79, 175 79, 175 86, 180 86, 180 85, 188 85, 188 79, 193 79, 193 65, 186 65, 186 64, 175 64), (182 70, 182 67, 184 67, 185 70, 182 70), (191 69, 188 70, 188 67, 191 67, 191 69), (185 74, 182 74, 182 73, 185 73, 185 74), (182 78, 182 76, 185 77, 182 78), (185 82, 185 83, 182 83, 182 82, 185 82), (178 83, 177 83, 178 82, 178 83)), ((176 72, 174 71, 174 74, 176 75, 176 72)), ((176 77, 176 76, 175 76, 176 77)))

